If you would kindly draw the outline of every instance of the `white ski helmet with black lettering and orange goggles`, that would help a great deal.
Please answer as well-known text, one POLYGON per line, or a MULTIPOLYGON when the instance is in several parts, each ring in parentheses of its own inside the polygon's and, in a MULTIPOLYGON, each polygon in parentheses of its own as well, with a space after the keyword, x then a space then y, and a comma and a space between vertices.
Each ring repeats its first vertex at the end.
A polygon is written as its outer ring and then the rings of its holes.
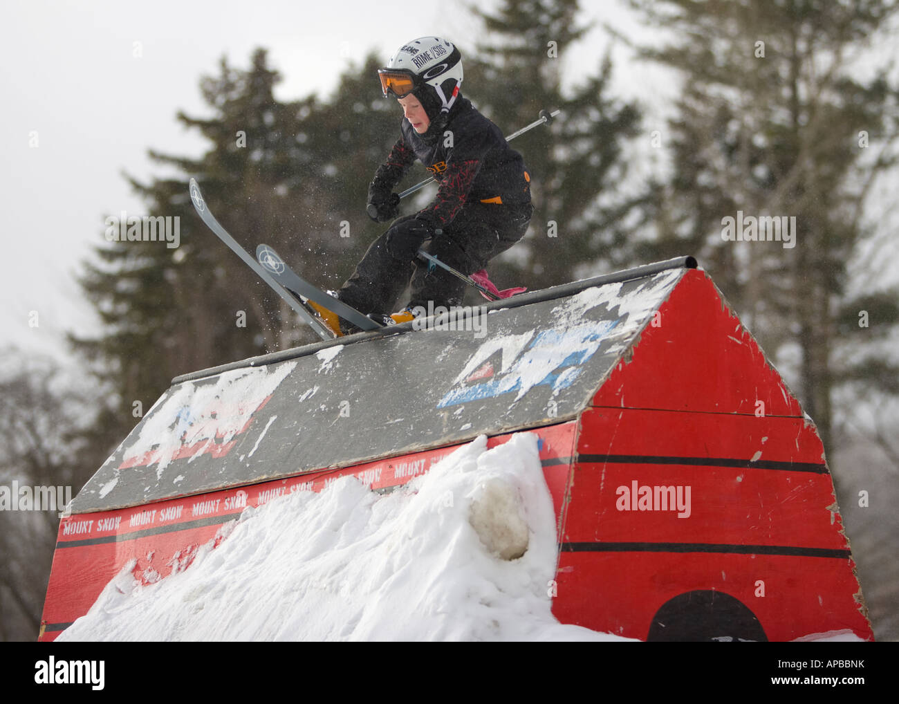
POLYGON ((387 67, 378 69, 378 77, 385 97, 412 93, 433 120, 456 102, 462 85, 462 55, 447 40, 420 37, 396 49, 387 67))

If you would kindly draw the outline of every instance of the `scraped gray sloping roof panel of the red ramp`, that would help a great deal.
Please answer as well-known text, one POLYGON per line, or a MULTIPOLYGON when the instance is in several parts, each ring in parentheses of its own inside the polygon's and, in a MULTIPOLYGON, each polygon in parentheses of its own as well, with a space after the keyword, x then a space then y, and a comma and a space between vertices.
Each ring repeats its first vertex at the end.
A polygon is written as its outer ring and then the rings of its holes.
POLYGON ((516 307, 492 304, 489 315, 444 325, 467 329, 405 324, 396 334, 354 335, 176 379, 72 511, 254 484, 574 418, 683 271, 566 289, 516 307))

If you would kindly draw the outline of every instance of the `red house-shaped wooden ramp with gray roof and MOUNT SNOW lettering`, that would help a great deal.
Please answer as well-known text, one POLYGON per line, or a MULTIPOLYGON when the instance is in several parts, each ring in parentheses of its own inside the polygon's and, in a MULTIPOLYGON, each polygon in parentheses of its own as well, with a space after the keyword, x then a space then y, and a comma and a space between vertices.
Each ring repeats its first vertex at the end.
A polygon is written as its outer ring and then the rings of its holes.
POLYGON ((60 523, 42 638, 248 505, 389 491, 536 432, 554 612, 642 639, 873 639, 814 423, 690 257, 174 379, 60 523))

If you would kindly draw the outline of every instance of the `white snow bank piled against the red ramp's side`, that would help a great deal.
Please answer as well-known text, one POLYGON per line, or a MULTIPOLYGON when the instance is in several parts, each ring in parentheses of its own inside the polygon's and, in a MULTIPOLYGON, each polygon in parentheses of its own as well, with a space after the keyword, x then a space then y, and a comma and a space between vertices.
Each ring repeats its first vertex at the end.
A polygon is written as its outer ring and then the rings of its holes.
POLYGON ((343 477, 248 508, 186 570, 133 565, 58 640, 605 640, 560 624, 537 438, 484 437, 388 495, 343 477))

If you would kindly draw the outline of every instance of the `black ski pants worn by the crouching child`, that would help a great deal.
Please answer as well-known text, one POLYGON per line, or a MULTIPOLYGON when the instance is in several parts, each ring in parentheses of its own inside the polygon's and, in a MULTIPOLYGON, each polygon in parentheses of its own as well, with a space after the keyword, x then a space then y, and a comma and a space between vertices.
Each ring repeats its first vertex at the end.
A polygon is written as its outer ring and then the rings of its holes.
MULTIPOLYGON (((439 234, 425 243, 424 250, 441 262, 464 274, 484 269, 497 254, 518 242, 530 223, 533 206, 466 203, 456 218, 439 234)), ((399 218, 397 223, 414 218, 399 218)), ((465 295, 465 281, 459 280, 439 266, 419 261, 404 262, 387 252, 387 231, 378 237, 362 257, 356 271, 337 297, 361 313, 389 314, 396 311, 396 299, 412 279, 412 296, 408 307, 459 306, 465 295)))

